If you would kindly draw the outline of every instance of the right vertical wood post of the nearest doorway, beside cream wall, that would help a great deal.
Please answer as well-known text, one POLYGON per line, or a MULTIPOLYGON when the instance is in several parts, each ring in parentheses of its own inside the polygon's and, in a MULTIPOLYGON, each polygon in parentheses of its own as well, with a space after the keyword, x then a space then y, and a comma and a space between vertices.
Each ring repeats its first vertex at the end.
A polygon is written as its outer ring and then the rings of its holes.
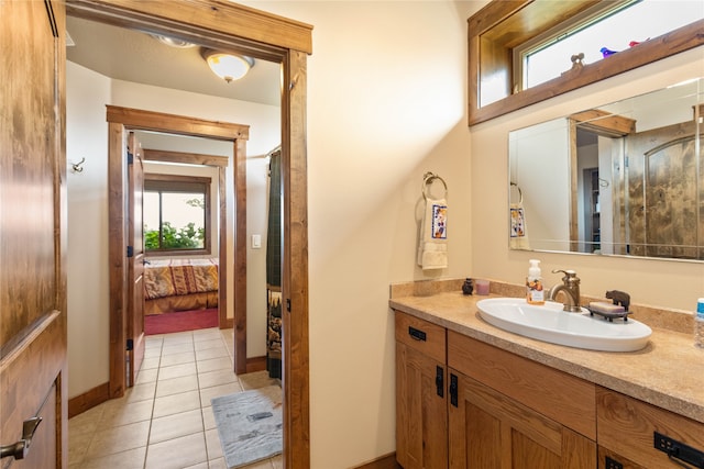
POLYGON ((284 467, 310 467, 306 54, 288 51, 282 96, 284 467))

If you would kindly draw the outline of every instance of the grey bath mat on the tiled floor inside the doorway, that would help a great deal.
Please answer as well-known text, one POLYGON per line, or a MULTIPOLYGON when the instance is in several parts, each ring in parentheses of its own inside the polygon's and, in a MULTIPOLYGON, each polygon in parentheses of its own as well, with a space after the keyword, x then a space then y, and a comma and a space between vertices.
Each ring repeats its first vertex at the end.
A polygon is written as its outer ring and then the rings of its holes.
POLYGON ((282 453, 282 389, 278 386, 213 398, 212 413, 229 469, 282 453))

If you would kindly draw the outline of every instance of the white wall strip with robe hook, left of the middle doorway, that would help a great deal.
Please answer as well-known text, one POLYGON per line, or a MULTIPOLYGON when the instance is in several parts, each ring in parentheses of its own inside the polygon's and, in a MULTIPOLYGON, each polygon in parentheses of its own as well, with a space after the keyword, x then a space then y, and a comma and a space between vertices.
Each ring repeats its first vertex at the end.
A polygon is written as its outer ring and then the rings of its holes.
POLYGON ((108 382, 108 126, 110 80, 66 64, 68 395, 108 382), (72 163, 86 158, 81 172, 72 163))

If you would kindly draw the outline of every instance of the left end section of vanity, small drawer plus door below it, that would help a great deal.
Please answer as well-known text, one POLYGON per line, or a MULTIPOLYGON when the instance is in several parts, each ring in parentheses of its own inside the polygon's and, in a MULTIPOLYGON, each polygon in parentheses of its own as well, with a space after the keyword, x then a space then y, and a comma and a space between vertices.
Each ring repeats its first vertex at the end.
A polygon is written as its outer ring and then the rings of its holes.
POLYGON ((446 330, 396 312, 396 460, 448 467, 446 330))

